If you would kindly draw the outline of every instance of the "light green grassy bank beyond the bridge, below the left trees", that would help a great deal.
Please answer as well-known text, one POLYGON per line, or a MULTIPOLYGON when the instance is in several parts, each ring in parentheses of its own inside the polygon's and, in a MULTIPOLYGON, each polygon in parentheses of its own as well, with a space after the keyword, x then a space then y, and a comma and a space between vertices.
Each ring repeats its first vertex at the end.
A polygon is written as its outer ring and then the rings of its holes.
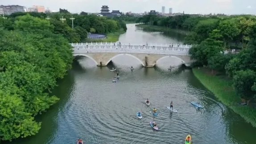
POLYGON ((120 31, 115 33, 107 33, 107 38, 105 39, 88 39, 86 42, 116 42, 119 40, 119 36, 124 33, 124 30, 120 29, 120 31))

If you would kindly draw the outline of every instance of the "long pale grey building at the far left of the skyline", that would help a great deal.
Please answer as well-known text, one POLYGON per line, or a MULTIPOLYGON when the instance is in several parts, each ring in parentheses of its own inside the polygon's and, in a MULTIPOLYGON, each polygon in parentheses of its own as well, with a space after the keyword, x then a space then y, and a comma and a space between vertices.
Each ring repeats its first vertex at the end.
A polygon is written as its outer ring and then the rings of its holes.
POLYGON ((20 5, 0 5, 0 14, 10 15, 14 12, 26 12, 26 7, 20 5))

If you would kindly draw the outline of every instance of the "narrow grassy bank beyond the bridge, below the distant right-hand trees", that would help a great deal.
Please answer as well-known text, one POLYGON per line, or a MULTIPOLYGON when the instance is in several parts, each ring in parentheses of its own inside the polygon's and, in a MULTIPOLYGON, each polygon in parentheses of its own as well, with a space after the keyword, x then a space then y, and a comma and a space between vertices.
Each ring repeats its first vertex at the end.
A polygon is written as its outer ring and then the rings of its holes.
POLYGON ((145 25, 145 24, 138 24, 135 25, 136 27, 143 28, 146 31, 157 31, 157 32, 164 32, 164 33, 179 33, 183 35, 188 35, 190 32, 182 29, 167 29, 166 27, 155 26, 155 25, 145 25))

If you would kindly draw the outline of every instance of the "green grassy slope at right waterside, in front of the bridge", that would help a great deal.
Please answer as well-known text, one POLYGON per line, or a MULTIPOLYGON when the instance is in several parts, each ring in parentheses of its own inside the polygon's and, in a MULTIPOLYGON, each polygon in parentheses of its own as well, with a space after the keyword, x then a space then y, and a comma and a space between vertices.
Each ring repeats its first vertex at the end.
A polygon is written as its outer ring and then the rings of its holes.
POLYGON ((238 104, 241 103, 241 99, 236 95, 231 79, 225 76, 213 75, 211 70, 204 68, 194 68, 193 73, 223 104, 230 107, 248 123, 251 123, 253 127, 256 127, 256 108, 238 104))

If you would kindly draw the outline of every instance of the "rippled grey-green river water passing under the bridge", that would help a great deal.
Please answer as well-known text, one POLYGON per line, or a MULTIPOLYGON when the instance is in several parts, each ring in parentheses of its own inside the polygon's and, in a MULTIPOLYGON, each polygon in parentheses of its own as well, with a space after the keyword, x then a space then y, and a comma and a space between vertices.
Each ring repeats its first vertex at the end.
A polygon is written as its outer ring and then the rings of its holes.
MULTIPOLYGON (((134 29, 128 25, 120 41, 182 42, 134 29)), ((53 91, 60 101, 37 117, 40 132, 10 144, 76 144, 78 138, 85 144, 184 144, 188 134, 194 144, 253 144, 256 128, 216 100, 191 70, 167 70, 178 64, 177 59, 166 58, 156 68, 143 68, 136 59, 122 55, 107 67, 97 67, 92 60, 79 58, 53 91), (116 83, 111 82, 112 65, 120 71, 116 83), (166 108, 170 101, 178 113, 166 108), (205 108, 198 110, 191 101, 205 108), (150 113, 154 107, 159 111, 156 117, 150 113), (142 119, 136 118, 137 111, 142 119), (150 127, 150 121, 158 124, 159 131, 150 127)))

